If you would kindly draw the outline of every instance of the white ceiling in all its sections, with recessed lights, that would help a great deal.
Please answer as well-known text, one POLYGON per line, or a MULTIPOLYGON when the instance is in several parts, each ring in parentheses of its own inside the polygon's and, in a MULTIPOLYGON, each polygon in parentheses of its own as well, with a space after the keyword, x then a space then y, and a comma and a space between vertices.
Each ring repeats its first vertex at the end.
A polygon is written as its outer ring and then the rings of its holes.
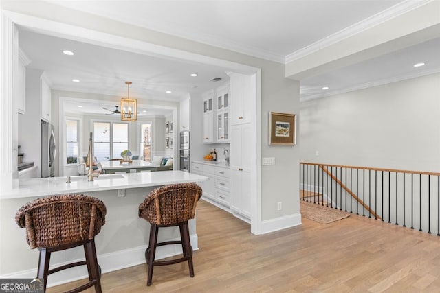
MULTIPOLYGON (((380 18, 407 3, 401 0, 50 2, 281 63, 347 27, 380 18)), ((20 32, 20 45, 32 60, 30 67, 45 70, 54 89, 121 96, 126 95, 124 82, 129 80, 133 82, 131 97, 176 101, 187 93, 200 93, 217 86, 212 78, 228 80, 225 74, 228 68, 159 59, 45 36, 26 28, 20 32), (61 54, 63 49, 76 54, 65 56, 61 54), (199 76, 191 78, 190 73, 199 76), (73 78, 81 82, 74 83, 73 78)), ((323 97, 439 72, 439 51, 440 40, 434 39, 305 78, 300 81, 300 95, 302 99, 323 97), (426 66, 415 69, 412 67, 415 62, 426 62, 426 66), (322 86, 330 89, 323 91, 322 86)), ((113 104, 102 106, 113 109, 113 104)), ((96 104, 94 111, 102 106, 96 104)))

